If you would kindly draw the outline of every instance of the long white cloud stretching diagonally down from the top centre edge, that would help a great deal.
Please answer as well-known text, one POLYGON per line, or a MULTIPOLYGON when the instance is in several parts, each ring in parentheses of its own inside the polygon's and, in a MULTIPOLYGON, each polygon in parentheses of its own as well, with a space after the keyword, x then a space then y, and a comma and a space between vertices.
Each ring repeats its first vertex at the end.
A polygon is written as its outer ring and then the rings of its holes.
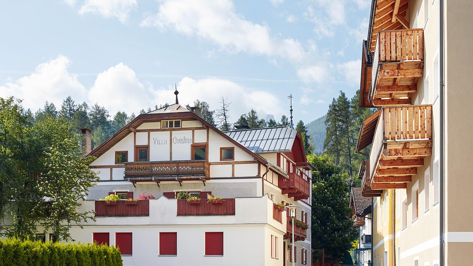
POLYGON ((290 61, 300 61, 305 54, 298 40, 271 35, 267 25, 245 20, 236 13, 231 0, 162 0, 158 14, 145 18, 141 26, 196 35, 230 53, 263 54, 290 61))

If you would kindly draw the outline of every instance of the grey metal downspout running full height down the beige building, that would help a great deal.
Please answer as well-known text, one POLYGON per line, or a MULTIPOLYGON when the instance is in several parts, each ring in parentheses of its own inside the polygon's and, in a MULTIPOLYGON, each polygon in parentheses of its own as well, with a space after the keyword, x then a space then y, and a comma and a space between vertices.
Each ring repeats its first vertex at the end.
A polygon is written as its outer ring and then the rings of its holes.
POLYGON ((440 0, 440 12, 439 12, 439 49, 438 49, 438 61, 439 61, 439 70, 438 70, 438 78, 439 78, 439 104, 440 104, 440 176, 439 176, 439 201, 440 201, 440 257, 439 257, 439 264, 440 266, 445 265, 445 241, 444 241, 444 216, 445 216, 445 201, 444 201, 444 1, 440 0))

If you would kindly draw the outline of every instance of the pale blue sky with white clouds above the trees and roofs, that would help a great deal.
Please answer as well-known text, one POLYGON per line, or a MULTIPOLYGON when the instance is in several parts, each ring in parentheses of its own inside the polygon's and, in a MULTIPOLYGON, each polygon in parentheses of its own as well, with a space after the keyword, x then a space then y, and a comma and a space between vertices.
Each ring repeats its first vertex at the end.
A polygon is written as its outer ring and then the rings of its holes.
POLYGON ((33 111, 68 95, 111 115, 194 99, 308 123, 359 89, 369 0, 0 3, 0 97, 33 111))

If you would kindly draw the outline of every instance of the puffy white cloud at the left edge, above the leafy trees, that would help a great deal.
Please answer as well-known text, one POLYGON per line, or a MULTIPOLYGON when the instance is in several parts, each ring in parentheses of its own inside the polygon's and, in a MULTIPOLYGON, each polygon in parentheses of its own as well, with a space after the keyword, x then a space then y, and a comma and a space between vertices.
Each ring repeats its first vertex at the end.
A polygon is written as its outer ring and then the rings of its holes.
POLYGON ((57 58, 39 64, 29 76, 0 86, 0 97, 14 96, 23 99, 23 106, 36 111, 44 102, 52 102, 57 108, 62 100, 71 96, 76 102, 86 100, 84 86, 77 75, 68 72, 70 60, 59 55, 57 58))

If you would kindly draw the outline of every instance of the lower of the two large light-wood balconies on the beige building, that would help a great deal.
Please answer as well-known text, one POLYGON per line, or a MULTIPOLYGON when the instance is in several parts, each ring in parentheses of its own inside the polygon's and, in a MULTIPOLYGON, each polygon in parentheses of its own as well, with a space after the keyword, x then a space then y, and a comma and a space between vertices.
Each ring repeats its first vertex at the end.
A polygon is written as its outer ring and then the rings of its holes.
POLYGON ((432 106, 384 107, 374 122, 377 126, 365 170, 369 180, 364 178, 364 186, 369 181, 373 190, 406 188, 424 158, 432 154, 432 106))

